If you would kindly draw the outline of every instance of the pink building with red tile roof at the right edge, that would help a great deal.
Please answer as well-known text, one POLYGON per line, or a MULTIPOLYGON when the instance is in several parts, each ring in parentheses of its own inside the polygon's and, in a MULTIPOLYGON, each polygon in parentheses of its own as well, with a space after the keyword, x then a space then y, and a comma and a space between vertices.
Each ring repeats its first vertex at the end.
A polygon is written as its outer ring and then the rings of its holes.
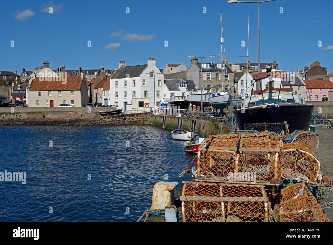
POLYGON ((303 82, 306 85, 307 101, 322 101, 323 97, 331 94, 329 91, 333 91, 333 82, 330 80, 303 80, 303 82))

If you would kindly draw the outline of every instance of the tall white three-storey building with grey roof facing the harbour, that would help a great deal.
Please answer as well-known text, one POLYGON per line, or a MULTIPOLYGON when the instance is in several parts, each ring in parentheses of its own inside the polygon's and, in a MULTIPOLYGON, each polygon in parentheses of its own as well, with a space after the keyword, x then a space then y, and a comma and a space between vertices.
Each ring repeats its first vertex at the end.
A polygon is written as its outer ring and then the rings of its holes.
POLYGON ((119 69, 110 79, 111 105, 124 110, 128 104, 132 104, 132 98, 149 99, 145 103, 154 108, 165 93, 164 75, 156 67, 155 58, 149 58, 147 64, 136 66, 126 66, 121 61, 119 69))

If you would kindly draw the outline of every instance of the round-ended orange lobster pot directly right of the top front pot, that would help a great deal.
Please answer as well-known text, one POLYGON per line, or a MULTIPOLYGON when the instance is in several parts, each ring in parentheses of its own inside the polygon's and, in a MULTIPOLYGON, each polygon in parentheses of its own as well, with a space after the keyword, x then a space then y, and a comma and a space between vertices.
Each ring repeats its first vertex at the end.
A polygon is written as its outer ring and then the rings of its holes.
POLYGON ((300 142, 284 144, 282 147, 281 175, 284 179, 316 182, 320 162, 314 152, 300 142))

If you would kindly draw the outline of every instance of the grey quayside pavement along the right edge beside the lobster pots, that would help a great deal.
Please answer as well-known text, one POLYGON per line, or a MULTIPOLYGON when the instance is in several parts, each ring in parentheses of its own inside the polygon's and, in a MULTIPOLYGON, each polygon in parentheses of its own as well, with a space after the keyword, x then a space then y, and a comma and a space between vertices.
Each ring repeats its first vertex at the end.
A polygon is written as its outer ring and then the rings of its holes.
MULTIPOLYGON (((325 174, 333 181, 333 158, 332 158, 332 143, 333 143, 333 129, 317 127, 317 134, 319 137, 319 157, 320 164, 325 174)), ((319 200, 322 201, 322 200, 319 200)), ((325 202, 333 201, 333 193, 324 199, 325 202)), ((327 217, 333 222, 333 208, 325 208, 327 217)))

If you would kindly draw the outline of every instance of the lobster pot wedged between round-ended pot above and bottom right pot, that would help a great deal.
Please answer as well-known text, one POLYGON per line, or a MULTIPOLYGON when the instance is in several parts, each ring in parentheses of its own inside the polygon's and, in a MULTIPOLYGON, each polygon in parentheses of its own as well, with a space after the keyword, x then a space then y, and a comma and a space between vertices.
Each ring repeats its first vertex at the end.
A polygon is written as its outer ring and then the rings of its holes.
POLYGON ((312 194, 304 183, 296 183, 278 191, 273 195, 273 199, 276 203, 280 203, 302 196, 312 196, 312 194))

